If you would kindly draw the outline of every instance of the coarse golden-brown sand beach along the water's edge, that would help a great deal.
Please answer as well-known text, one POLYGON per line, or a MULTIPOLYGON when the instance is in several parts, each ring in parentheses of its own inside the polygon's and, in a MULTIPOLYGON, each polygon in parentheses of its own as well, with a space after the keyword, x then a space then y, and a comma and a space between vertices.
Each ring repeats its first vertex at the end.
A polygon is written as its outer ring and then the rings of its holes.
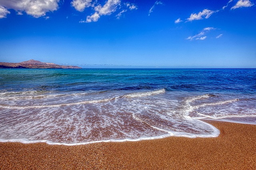
POLYGON ((216 138, 169 137, 79 146, 0 143, 0 170, 256 169, 256 125, 207 121, 216 138))

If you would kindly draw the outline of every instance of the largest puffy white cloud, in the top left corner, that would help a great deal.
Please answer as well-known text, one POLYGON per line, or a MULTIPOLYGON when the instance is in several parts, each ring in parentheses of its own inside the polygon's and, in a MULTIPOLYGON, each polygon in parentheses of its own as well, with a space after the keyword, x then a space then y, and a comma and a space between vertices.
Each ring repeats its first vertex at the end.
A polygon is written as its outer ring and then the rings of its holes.
POLYGON ((35 18, 45 16, 46 12, 53 12, 58 9, 60 0, 0 0, 0 6, 7 9, 14 9, 21 14, 26 12, 35 18))

